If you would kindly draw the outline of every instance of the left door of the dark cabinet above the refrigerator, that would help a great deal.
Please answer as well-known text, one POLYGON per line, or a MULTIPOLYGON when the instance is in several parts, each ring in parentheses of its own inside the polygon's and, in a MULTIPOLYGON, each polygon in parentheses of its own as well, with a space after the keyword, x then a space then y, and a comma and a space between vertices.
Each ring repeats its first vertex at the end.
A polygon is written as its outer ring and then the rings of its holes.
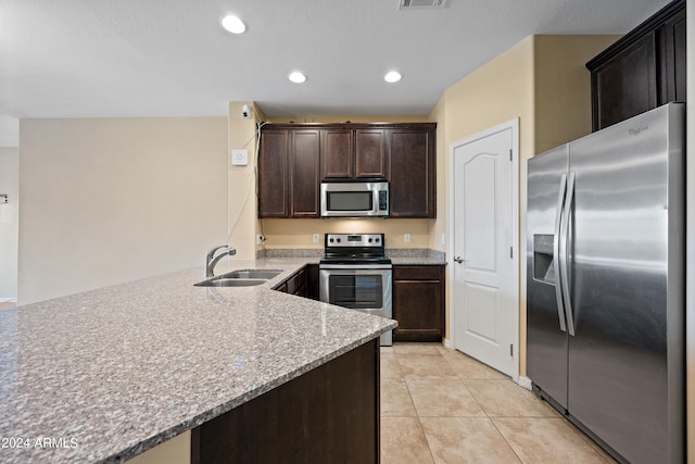
POLYGON ((592 73, 594 130, 657 105, 655 33, 592 73))

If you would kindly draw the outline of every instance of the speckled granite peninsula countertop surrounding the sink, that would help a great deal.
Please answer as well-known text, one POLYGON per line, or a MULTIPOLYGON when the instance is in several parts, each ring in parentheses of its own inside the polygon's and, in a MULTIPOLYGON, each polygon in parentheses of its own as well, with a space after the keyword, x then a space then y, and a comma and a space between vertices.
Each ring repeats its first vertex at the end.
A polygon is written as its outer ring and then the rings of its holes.
POLYGON ((194 268, 0 311, 0 462, 132 457, 395 327, 271 290, 312 261, 230 261, 285 269, 258 287, 193 287, 194 268))

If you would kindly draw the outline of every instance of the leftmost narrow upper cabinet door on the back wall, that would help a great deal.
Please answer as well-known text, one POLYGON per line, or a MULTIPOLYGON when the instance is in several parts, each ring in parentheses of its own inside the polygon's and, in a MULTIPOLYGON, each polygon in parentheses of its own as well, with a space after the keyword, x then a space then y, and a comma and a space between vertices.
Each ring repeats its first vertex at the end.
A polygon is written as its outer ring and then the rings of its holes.
POLYGON ((258 153, 258 217, 288 217, 289 131, 264 130, 258 153))

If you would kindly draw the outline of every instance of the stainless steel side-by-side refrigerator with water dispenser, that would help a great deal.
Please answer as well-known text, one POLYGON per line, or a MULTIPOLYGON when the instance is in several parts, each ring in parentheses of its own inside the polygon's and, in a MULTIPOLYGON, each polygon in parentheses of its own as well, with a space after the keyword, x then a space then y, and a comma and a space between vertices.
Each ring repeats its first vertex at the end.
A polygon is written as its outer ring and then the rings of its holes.
POLYGON ((685 106, 528 163, 527 375, 619 461, 684 461, 685 106))

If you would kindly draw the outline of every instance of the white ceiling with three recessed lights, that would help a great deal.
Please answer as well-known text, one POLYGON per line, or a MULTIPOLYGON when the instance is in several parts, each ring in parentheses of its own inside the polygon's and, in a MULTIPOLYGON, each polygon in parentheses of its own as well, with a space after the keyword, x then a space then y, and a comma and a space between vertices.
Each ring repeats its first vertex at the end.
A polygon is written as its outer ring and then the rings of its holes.
POLYGON ((668 2, 2 0, 0 146, 8 117, 226 115, 241 100, 276 116, 426 114, 530 35, 624 34, 668 2), (227 13, 245 34, 219 26, 227 13), (391 68, 400 83, 383 81, 391 68))

